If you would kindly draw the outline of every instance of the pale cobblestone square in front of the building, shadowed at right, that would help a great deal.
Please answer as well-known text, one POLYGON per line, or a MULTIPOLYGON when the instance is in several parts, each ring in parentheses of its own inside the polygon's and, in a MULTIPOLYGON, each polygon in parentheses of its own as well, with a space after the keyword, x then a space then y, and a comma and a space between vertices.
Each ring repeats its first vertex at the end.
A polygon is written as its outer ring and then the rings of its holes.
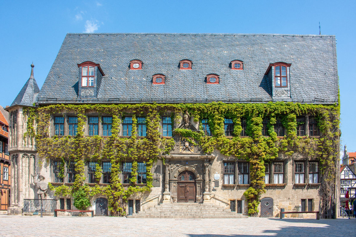
POLYGON ((0 215, 0 236, 252 237, 356 236, 356 219, 126 219, 0 215))

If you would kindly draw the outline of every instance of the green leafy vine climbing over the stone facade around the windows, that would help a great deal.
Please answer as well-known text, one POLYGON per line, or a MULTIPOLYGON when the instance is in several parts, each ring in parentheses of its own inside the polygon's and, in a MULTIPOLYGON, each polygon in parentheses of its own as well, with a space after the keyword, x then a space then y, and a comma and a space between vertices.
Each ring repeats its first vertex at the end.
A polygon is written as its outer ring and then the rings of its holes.
MULTIPOLYGON (((266 104, 82 104, 82 105, 48 105, 37 108, 24 108, 27 113, 26 133, 24 139, 35 139, 38 156, 45 160, 60 159, 62 167, 60 176, 64 177, 64 162, 76 162, 75 182, 66 184, 49 184, 56 195, 72 195, 74 205, 78 209, 85 209, 90 205, 89 197, 104 194, 109 201, 109 210, 115 216, 125 215, 125 205, 130 195, 148 193, 152 188, 151 168, 161 154, 168 154, 174 145, 172 138, 162 138, 159 133, 159 123, 162 115, 167 111, 171 114, 172 125, 180 123, 181 114, 188 111, 196 121, 208 120, 212 136, 205 136, 202 131, 195 132, 188 129, 174 129, 173 133, 187 139, 199 142, 205 153, 219 150, 226 156, 234 156, 236 160, 250 162, 250 187, 244 193, 248 200, 248 213, 256 215, 261 194, 265 192, 264 163, 278 157, 279 152, 290 156, 294 152, 305 154, 309 159, 319 160, 323 181, 319 189, 321 200, 328 200, 333 195, 332 185, 335 183, 336 163, 339 149, 339 106, 314 105, 299 103, 266 103, 266 104), (112 115, 112 135, 85 136, 86 114, 91 112, 101 115, 112 115), (53 114, 76 114, 78 117, 78 133, 76 136, 51 136, 49 132, 50 119, 53 114), (132 116, 132 136, 119 136, 120 119, 125 115, 132 116), (320 138, 297 136, 297 116, 316 116, 321 131, 320 138), (147 136, 137 138, 137 116, 146 117, 147 136), (239 135, 241 118, 246 119, 248 137, 225 136, 224 118, 231 118, 234 122, 234 134, 239 135), (262 136, 262 121, 268 118, 268 136, 262 136), (276 119, 280 118, 286 135, 278 138, 274 132, 276 119), (119 179, 122 161, 132 161, 131 185, 124 186, 119 179), (85 183, 85 162, 97 162, 94 174, 96 184, 89 186, 85 183), (110 161, 111 184, 99 184, 101 177, 101 162, 110 161), (147 185, 136 185, 137 162, 143 161, 147 167, 147 185)), ((173 126, 172 126, 173 128, 173 126)), ((200 130, 201 125, 200 125, 200 130)), ((164 161, 163 161, 164 162, 164 161)), ((323 210, 322 210, 323 211, 323 210)))

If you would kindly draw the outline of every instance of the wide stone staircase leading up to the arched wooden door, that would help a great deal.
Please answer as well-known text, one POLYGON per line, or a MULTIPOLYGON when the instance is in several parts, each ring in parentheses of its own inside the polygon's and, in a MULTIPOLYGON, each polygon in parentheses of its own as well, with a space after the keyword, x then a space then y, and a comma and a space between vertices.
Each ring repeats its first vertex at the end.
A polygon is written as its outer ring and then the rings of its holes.
POLYGON ((227 207, 210 203, 164 203, 145 211, 133 213, 127 218, 247 218, 227 207))

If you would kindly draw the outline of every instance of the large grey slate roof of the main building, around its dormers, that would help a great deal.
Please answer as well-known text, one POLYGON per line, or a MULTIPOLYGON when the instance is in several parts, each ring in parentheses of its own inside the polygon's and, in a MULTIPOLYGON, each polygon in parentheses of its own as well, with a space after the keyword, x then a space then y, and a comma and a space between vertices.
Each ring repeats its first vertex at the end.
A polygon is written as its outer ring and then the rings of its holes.
POLYGON ((337 101, 335 36, 173 33, 68 33, 37 100, 274 101, 263 76, 278 61, 292 64, 291 98, 282 100, 337 101), (129 70, 132 59, 142 60, 143 69, 129 70), (182 59, 192 60, 193 69, 179 70, 182 59), (229 68, 236 59, 244 62, 244 70, 229 68), (77 64, 84 61, 104 71, 97 98, 78 99, 77 64), (152 85, 158 73, 166 75, 165 85, 152 85), (210 73, 220 75, 220 84, 204 82, 210 73))

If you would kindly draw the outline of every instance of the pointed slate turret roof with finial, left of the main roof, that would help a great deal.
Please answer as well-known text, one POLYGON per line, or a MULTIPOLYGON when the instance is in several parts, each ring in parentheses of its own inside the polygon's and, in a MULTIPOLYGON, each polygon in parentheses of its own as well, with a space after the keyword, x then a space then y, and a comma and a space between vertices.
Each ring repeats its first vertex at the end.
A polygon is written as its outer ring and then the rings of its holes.
MULTIPOLYGON (((23 106, 32 106, 35 102, 36 93, 40 92, 37 82, 33 77, 33 64, 31 64, 31 75, 30 78, 26 81, 25 85, 22 87, 19 94, 16 96, 11 106, 14 105, 23 105, 23 106)), ((10 106, 10 107, 11 107, 10 106)))

